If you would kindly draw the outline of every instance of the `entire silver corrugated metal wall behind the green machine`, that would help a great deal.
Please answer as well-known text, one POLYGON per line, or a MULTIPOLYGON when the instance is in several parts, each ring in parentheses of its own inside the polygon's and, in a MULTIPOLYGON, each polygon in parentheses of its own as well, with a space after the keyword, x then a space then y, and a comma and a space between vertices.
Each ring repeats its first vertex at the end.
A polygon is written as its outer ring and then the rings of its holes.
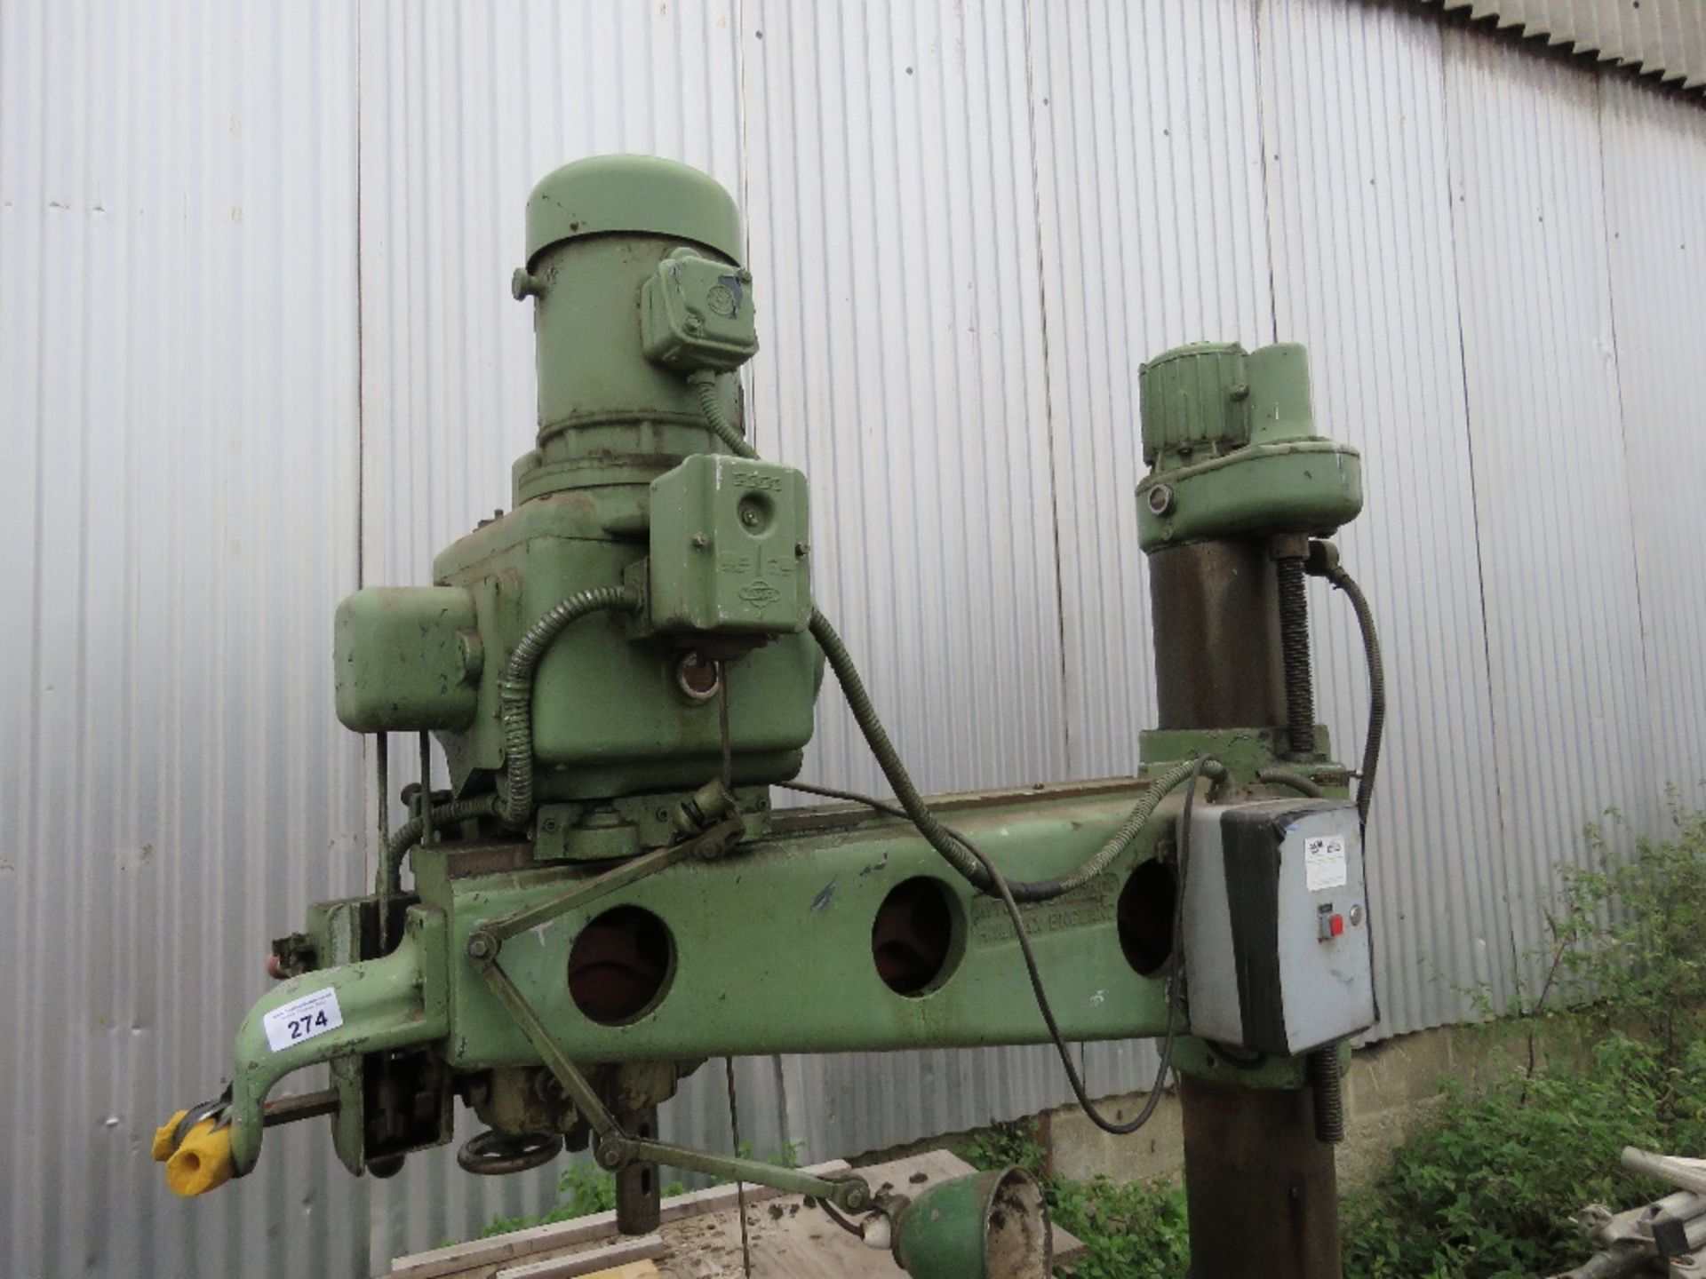
MULTIPOLYGON (((310 1126, 181 1204, 147 1139, 225 1069, 266 938, 368 871, 331 611, 507 503, 520 205, 601 150, 739 193, 757 442, 812 476, 822 597, 928 788, 1133 766, 1136 363, 1278 336, 1368 459, 1382 1033, 1512 993, 1604 805, 1706 798, 1691 102, 1348 0, 9 0, 0 1078, 41 1172, 0 1270, 355 1274, 546 1194, 449 1151, 351 1184, 310 1126)), ((1351 755, 1361 655, 1314 602, 1351 755)), ((880 784, 834 696, 807 771, 880 784)), ((1066 1091, 1015 1049, 749 1061, 740 1097, 759 1149, 826 1158, 1066 1091)), ((715 1066, 667 1122, 727 1141, 715 1066)))

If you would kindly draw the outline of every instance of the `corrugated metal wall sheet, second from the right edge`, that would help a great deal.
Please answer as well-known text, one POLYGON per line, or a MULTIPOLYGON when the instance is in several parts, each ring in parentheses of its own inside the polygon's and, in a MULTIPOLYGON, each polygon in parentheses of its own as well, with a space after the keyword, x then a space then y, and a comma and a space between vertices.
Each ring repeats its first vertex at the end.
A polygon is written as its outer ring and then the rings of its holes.
POLYGON ((1619 430, 1600 80, 1471 32, 1445 32, 1445 49, 1506 899, 1532 987, 1556 868, 1587 859, 1581 827, 1607 805, 1650 827, 1662 790, 1619 430))

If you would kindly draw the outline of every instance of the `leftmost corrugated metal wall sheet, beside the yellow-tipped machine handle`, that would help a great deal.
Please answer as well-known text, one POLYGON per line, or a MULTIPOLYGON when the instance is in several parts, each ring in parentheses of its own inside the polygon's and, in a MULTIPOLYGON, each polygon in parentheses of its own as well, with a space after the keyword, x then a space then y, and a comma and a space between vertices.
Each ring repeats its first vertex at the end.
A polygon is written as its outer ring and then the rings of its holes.
POLYGON ((331 611, 357 576, 355 20, 0 5, 0 1272, 353 1274, 278 1131, 188 1204, 271 936, 362 880, 331 611))

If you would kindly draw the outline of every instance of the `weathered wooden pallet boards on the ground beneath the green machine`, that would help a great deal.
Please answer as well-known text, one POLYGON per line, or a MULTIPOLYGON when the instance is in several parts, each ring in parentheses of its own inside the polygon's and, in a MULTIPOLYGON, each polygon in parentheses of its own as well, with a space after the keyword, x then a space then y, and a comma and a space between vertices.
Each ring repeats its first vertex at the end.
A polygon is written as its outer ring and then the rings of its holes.
MULTIPOLYGON (((834 1160, 807 1172, 846 1170, 846 1163, 834 1160)), ((969 1172, 971 1165, 940 1149, 860 1168, 873 1189, 889 1185, 901 1194, 918 1194, 969 1172)), ((747 1185, 746 1204, 752 1279, 901 1274, 887 1252, 865 1247, 821 1211, 805 1207, 798 1195, 747 1185)), ((737 1211, 735 1187, 717 1185, 665 1199, 655 1235, 621 1236, 616 1214, 599 1212, 399 1257, 379 1279, 744 1279, 737 1211)), ((1066 1262, 1080 1252, 1083 1245, 1056 1226, 1054 1260, 1066 1262)))

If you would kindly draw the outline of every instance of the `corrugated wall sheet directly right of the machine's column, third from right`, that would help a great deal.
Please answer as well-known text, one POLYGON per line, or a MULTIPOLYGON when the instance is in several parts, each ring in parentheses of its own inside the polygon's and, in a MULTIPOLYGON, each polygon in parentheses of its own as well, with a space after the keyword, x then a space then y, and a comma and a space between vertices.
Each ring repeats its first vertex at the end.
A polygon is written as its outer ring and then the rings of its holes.
MULTIPOLYGON (((1278 334, 1309 346, 1320 428, 1363 450, 1367 506, 1338 544, 1385 638, 1368 883, 1387 1035, 1469 1016, 1469 987, 1510 991, 1442 31, 1397 7, 1269 0, 1261 48, 1278 334)), ((1326 587, 1310 611, 1317 711, 1355 761, 1355 614, 1326 587)))

